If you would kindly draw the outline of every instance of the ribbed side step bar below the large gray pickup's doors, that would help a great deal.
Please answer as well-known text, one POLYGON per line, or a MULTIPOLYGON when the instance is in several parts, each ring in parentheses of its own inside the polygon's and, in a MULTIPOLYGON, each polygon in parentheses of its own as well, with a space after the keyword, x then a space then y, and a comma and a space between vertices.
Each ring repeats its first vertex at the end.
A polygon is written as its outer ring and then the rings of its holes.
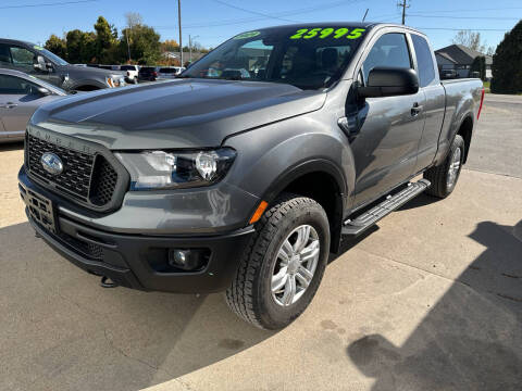
POLYGON ((417 182, 409 182, 408 186, 398 193, 386 197, 386 200, 375 205, 371 210, 362 213, 353 219, 347 219, 343 225, 343 235, 356 237, 364 232, 368 228, 377 223, 381 218, 402 206, 405 203, 415 198, 432 184, 430 180, 420 179, 417 182))

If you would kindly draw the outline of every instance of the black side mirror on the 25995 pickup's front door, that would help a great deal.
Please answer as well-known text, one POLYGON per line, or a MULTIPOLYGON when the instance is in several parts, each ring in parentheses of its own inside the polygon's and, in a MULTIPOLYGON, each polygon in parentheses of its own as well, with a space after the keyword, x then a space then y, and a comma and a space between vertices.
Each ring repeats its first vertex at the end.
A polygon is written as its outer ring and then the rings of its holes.
POLYGON ((366 86, 358 87, 360 98, 412 94, 419 91, 419 77, 410 68, 375 67, 368 75, 366 86))

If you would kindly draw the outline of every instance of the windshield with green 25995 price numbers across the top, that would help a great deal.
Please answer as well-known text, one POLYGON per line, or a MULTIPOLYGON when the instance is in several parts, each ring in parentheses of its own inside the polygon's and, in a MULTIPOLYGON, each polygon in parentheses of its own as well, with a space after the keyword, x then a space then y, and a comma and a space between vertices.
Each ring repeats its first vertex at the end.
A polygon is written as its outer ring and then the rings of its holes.
POLYGON ((192 64, 181 77, 332 86, 343 75, 364 28, 283 26, 239 34, 192 64))

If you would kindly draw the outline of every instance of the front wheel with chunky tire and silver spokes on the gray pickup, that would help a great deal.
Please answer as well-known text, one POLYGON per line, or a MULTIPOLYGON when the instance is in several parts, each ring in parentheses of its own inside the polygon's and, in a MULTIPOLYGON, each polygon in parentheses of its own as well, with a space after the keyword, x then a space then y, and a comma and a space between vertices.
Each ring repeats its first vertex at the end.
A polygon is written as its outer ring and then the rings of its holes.
MULTIPOLYGON (((306 234, 302 237, 306 237, 306 234)), ((287 245, 285 249, 289 250, 287 245)), ((257 224, 256 234, 247 245, 231 287, 226 290, 226 303, 240 318, 259 328, 271 330, 284 328, 307 308, 315 295, 328 253, 330 226, 323 207, 312 199, 285 193, 257 224), (300 263, 299 258, 296 261, 298 255, 294 255, 285 269, 282 266, 284 262, 278 255, 279 250, 285 252, 283 244, 291 244, 293 240, 296 240, 295 248, 299 248, 297 238, 299 232, 307 229, 303 227, 311 227, 308 228, 310 234, 307 240, 310 245, 306 243, 302 250, 302 254, 306 254, 303 260, 310 257, 312 253, 318 254, 312 277, 306 288, 301 277, 306 274, 301 267, 310 267, 312 261, 300 263), (319 251, 315 248, 318 242, 319 251), (281 288, 285 293, 274 293, 273 278, 282 276, 283 281, 285 275, 286 282, 281 288), (295 281, 295 295, 286 294, 287 287, 293 285, 291 280, 295 281), (295 302, 290 302, 291 300, 295 302)))

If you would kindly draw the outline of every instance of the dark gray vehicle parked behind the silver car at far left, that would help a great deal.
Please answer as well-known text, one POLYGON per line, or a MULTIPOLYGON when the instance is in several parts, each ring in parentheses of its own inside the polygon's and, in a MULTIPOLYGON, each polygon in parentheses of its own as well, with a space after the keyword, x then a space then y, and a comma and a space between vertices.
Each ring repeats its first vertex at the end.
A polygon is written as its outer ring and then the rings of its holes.
POLYGON ((69 64, 38 45, 0 38, 0 67, 21 71, 66 91, 125 86, 120 71, 69 64))

